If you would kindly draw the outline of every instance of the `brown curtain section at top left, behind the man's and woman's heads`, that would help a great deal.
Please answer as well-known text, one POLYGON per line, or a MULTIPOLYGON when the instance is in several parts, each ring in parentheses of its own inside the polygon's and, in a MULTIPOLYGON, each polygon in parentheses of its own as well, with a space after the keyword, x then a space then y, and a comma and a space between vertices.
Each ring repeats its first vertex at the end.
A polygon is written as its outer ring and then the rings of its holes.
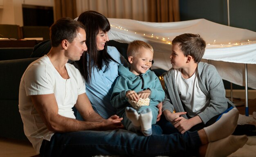
POLYGON ((77 17, 76 0, 54 0, 54 21, 62 17, 77 17))

